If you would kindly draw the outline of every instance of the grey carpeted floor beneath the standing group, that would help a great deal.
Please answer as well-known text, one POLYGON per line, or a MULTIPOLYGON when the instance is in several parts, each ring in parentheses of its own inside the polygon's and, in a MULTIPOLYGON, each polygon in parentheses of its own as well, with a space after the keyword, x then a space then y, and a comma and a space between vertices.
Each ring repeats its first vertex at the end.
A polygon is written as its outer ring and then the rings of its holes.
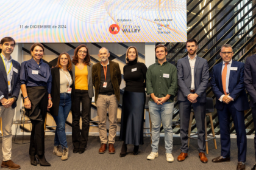
MULTIPOLYGON (((29 136, 24 137, 25 142, 29 140, 29 136)), ((16 142, 22 142, 22 137, 16 138, 16 142)), ((151 141, 149 137, 144 138, 144 144, 140 146, 138 155, 133 155, 133 146, 128 145, 128 154, 126 157, 119 157, 123 141, 116 139, 115 154, 98 154, 100 146, 99 137, 89 137, 87 149, 84 154, 73 154, 73 145, 71 136, 67 136, 69 146, 69 158, 66 161, 60 160, 60 157, 52 154, 54 136, 46 136, 45 138, 45 155, 46 160, 51 163, 51 167, 42 167, 40 165, 32 166, 29 160, 29 144, 14 144, 12 148, 12 160, 21 165, 21 169, 213 169, 213 170, 229 170, 236 169, 237 165, 237 147, 236 139, 231 139, 231 161, 225 163, 212 163, 212 159, 218 157, 221 152, 220 140, 217 138, 218 149, 214 148, 213 141, 209 142, 209 154, 207 155, 208 163, 201 163, 197 152, 197 141, 191 140, 188 158, 185 161, 177 161, 180 154, 180 138, 174 137, 174 146, 172 155, 174 162, 168 163, 165 157, 165 141, 160 138, 159 157, 155 160, 147 160, 146 157, 151 152, 151 141)), ((2 144, 2 140, 0 140, 2 144)), ((0 157, 2 160, 2 155, 0 157)), ((246 169, 251 169, 255 163, 254 140, 247 139, 247 162, 246 169)))

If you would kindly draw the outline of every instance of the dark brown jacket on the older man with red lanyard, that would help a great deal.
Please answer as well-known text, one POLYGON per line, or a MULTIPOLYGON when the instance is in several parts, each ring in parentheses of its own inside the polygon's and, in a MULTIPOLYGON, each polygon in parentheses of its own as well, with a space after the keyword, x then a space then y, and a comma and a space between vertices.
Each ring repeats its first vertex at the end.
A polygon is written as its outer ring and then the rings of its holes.
MULTIPOLYGON (((121 70, 118 63, 109 61, 110 77, 113 85, 113 89, 116 95, 116 99, 120 100, 120 84, 122 81, 121 70)), ((99 86, 101 86, 101 62, 93 65, 93 86, 95 92, 95 103, 99 95, 99 86)))

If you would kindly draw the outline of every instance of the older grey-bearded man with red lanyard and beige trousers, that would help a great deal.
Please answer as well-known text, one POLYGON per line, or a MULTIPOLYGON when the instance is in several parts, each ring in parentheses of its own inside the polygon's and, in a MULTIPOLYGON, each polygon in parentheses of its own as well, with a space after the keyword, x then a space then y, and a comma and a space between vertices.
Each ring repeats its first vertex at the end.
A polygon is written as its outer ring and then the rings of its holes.
POLYGON ((118 63, 108 60, 110 53, 105 47, 99 50, 98 56, 101 58, 101 62, 93 65, 92 73, 95 103, 99 116, 99 138, 101 139, 99 154, 105 153, 107 143, 108 153, 115 154, 116 116, 120 98, 119 86, 122 81, 121 70, 118 63), (109 120, 108 138, 107 113, 109 120))

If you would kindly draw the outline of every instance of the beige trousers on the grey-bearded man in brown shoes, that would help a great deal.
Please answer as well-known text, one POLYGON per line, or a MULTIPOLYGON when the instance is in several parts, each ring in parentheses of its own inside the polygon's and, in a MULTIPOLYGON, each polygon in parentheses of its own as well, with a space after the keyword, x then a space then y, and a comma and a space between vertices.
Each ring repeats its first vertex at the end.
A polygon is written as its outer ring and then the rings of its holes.
POLYGON ((97 100, 97 112, 99 116, 99 138, 101 138, 101 143, 115 143, 117 109, 118 100, 116 100, 115 95, 99 95, 97 100), (109 118, 108 140, 106 127, 107 110, 109 118))

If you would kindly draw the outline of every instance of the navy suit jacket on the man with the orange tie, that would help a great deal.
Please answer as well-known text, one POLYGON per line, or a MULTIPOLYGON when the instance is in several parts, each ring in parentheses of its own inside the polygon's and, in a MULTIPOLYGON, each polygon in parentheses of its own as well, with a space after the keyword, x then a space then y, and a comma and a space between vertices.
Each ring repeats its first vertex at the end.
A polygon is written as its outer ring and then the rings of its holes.
MULTIPOLYGON (((249 109, 248 98, 244 87, 244 63, 232 61, 231 67, 237 67, 237 70, 230 70, 229 75, 229 95, 233 98, 233 104, 238 111, 249 109)), ((216 109, 222 110, 224 107, 223 102, 219 98, 224 95, 222 87, 222 62, 216 64, 212 71, 212 89, 216 97, 216 109)))

